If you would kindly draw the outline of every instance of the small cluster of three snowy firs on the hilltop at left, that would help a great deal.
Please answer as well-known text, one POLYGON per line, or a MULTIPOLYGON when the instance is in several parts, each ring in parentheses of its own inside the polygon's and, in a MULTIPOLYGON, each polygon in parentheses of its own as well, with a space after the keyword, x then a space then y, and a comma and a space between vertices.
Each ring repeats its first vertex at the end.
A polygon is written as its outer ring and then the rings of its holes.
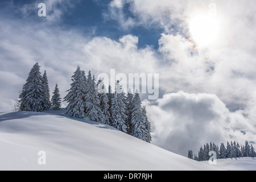
POLYGON ((47 73, 40 73, 40 66, 36 63, 32 68, 26 83, 19 93, 19 99, 14 105, 15 111, 36 111, 61 109, 61 98, 58 85, 56 84, 52 99, 50 100, 47 73))

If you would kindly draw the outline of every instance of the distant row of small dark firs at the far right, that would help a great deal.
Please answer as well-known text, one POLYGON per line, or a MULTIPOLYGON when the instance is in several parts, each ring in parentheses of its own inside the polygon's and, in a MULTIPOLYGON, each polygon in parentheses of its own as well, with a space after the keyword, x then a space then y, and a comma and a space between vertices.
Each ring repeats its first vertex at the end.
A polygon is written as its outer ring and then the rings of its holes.
POLYGON ((204 148, 200 147, 198 156, 193 155, 193 151, 188 151, 188 158, 197 161, 209 160, 209 152, 214 151, 217 154, 217 159, 228 159, 228 158, 242 158, 242 157, 256 157, 253 145, 245 141, 245 146, 240 145, 238 142, 227 142, 226 147, 224 143, 221 143, 220 147, 210 142, 205 144, 204 148))

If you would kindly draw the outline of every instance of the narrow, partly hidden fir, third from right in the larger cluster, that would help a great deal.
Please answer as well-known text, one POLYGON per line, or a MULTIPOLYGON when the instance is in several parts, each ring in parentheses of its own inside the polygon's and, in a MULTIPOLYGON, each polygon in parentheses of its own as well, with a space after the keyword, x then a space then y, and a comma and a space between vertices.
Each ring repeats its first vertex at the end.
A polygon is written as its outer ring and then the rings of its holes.
POLYGON ((131 134, 131 117, 133 114, 133 93, 131 92, 131 89, 129 89, 129 92, 127 93, 126 97, 126 126, 127 126, 127 134, 131 134))

